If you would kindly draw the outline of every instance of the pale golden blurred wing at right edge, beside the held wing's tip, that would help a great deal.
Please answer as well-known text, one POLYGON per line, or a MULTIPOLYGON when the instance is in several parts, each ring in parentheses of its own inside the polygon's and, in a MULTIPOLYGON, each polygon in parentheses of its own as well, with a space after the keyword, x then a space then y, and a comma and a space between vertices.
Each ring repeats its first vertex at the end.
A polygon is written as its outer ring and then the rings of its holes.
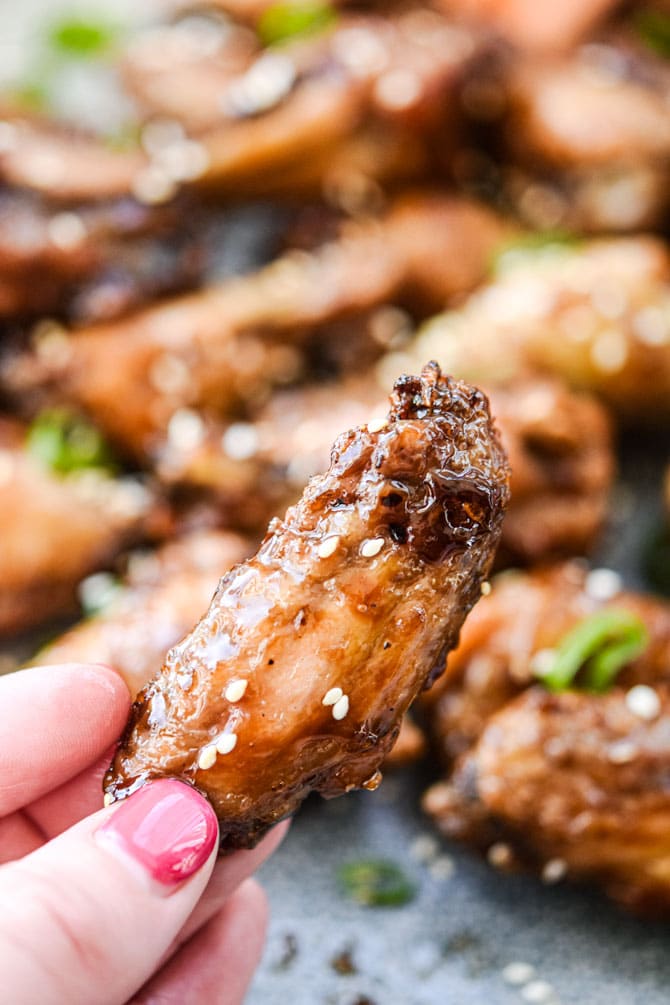
POLYGON ((389 367, 430 357, 485 386, 555 374, 624 420, 660 423, 670 415, 669 307, 670 261, 655 238, 510 252, 491 282, 428 323, 389 367))

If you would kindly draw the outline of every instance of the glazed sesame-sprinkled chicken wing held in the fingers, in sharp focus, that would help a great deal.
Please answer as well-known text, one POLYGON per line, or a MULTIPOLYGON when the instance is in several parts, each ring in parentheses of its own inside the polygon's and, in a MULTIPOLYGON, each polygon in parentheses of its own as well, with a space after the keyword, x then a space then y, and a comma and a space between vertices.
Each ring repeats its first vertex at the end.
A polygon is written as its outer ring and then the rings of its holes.
POLYGON ((374 787, 478 598, 507 480, 480 392, 437 364, 397 381, 386 425, 337 440, 327 473, 171 650, 134 707, 107 799, 179 777, 232 848, 312 790, 374 787))

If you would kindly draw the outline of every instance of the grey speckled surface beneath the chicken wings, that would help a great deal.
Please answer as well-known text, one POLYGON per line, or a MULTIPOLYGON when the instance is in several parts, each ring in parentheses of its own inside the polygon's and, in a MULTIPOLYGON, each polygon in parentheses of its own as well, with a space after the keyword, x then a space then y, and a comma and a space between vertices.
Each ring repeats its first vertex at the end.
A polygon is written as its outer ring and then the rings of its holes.
MULTIPOLYGON (((670 444, 629 434, 623 446, 615 516, 595 564, 641 587, 639 557, 660 512, 660 461, 670 457, 670 444)), ((453 873, 434 878, 412 854, 417 837, 436 836, 419 809, 430 777, 430 767, 408 770, 387 776, 376 793, 306 804, 262 871, 272 919, 249 1005, 670 1001, 670 925, 629 918, 591 890, 502 875, 446 841, 439 853, 453 873), (411 903, 370 909, 343 897, 338 866, 371 855, 392 859, 417 880, 411 903), (343 951, 356 973, 343 976, 332 966, 343 951), (514 962, 534 968, 534 984, 505 983, 502 971, 514 962)))

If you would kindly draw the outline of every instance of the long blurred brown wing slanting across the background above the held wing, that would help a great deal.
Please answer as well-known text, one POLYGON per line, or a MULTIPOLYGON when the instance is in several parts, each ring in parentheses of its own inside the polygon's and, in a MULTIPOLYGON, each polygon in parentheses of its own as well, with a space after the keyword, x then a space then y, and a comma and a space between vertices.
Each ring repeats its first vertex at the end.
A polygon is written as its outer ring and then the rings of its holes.
POLYGON ((313 253, 288 252, 255 273, 84 329, 56 359, 7 360, 2 377, 18 393, 78 402, 146 460, 179 409, 234 415, 295 379, 322 326, 395 295, 425 308, 471 288, 504 233, 475 203, 409 195, 380 219, 344 224, 313 253))

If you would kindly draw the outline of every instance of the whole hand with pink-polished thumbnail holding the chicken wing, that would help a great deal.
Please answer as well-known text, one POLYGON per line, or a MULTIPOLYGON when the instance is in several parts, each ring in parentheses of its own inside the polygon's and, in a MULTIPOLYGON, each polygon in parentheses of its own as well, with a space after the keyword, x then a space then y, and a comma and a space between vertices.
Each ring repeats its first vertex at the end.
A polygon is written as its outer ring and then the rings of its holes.
POLYGON ((216 817, 173 780, 99 809, 128 717, 104 666, 0 677, 0 972, 12 1005, 236 1005, 262 949, 248 876, 277 846, 219 861, 216 817))

